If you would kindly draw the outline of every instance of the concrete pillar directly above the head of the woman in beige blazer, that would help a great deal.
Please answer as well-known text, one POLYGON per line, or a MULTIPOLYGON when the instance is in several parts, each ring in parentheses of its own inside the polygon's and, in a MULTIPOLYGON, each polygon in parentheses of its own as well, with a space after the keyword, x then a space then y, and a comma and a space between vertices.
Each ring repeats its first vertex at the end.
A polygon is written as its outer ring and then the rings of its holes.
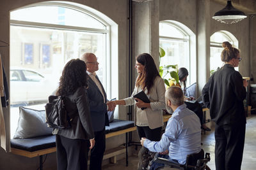
POLYGON ((133 55, 150 53, 159 66, 159 0, 133 3, 133 55))

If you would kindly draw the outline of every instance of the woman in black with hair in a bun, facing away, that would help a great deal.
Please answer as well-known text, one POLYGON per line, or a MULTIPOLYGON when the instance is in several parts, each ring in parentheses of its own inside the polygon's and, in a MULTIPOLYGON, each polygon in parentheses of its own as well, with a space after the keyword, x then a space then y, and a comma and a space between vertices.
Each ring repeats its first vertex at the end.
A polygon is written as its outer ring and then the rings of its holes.
POLYGON ((246 124, 243 100, 248 83, 234 69, 241 61, 239 50, 227 41, 222 46, 221 60, 225 65, 209 78, 202 98, 216 123, 216 169, 241 169, 246 124))

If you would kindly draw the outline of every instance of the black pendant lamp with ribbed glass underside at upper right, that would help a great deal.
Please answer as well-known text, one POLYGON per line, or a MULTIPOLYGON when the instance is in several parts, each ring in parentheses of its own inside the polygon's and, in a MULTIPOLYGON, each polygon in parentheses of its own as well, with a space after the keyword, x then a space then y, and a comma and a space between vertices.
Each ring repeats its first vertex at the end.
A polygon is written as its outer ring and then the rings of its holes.
POLYGON ((231 1, 227 1, 227 6, 216 12, 212 18, 225 24, 234 24, 246 18, 246 15, 243 11, 234 8, 231 1))

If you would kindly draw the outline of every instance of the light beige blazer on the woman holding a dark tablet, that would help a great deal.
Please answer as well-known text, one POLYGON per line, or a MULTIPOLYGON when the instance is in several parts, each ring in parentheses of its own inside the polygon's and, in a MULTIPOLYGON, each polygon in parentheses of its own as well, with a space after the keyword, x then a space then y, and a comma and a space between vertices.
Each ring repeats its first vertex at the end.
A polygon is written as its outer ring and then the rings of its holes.
MULTIPOLYGON (((131 97, 127 97, 124 99, 125 106, 131 106, 134 104, 134 121, 136 124, 136 109, 139 110, 137 106, 135 106, 135 100, 133 96, 140 92, 141 90, 135 86, 131 97), (135 109, 136 107, 136 109, 135 109)), ((145 90, 145 94, 148 93, 148 90, 145 90)), ((165 106, 165 87, 164 81, 160 76, 157 76, 154 80, 154 85, 150 89, 150 93, 147 94, 148 99, 150 100, 150 107, 143 111, 146 111, 148 127, 150 129, 156 129, 157 127, 163 126, 163 113, 162 110, 165 106)))

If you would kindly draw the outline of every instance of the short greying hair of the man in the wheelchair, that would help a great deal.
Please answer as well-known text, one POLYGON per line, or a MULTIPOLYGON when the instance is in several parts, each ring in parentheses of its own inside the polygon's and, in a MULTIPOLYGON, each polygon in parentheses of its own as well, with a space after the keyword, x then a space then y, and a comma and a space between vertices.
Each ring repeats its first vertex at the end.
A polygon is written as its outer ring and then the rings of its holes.
POLYGON ((177 86, 169 87, 165 92, 165 98, 170 100, 174 106, 180 106, 184 104, 184 94, 182 89, 177 86))

